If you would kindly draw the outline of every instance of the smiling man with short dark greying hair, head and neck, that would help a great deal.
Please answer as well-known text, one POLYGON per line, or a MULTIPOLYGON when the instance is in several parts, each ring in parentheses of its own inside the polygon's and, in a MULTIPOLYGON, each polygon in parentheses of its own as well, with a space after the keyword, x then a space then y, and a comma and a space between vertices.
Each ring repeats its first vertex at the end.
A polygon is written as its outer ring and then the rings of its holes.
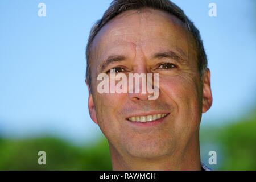
POLYGON ((89 114, 108 139, 113 170, 207 169, 199 126, 212 105, 210 71, 199 31, 179 7, 114 0, 90 32, 86 59, 89 114), (158 76, 158 97, 98 92, 98 75, 113 71, 158 76))

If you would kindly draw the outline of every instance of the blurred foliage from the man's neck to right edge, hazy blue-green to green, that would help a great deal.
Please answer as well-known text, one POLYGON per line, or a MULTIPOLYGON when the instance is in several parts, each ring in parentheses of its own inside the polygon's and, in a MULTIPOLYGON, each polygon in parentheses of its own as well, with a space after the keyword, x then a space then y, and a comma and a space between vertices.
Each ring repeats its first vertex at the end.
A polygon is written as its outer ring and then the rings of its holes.
POLYGON ((224 126, 200 129, 201 160, 214 170, 256 170, 256 112, 224 126), (208 152, 217 152, 209 165, 208 152))

